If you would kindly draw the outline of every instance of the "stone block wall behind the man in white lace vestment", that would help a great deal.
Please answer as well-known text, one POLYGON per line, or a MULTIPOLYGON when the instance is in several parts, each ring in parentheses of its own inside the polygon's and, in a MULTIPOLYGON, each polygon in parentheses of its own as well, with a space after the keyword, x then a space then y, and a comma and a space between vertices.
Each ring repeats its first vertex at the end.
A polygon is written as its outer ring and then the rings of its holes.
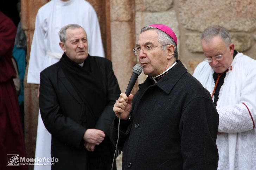
POLYGON ((231 33, 239 52, 256 57, 256 1, 255 0, 180 0, 178 4, 181 32, 180 59, 190 73, 204 55, 200 33, 211 25, 224 26, 231 33))

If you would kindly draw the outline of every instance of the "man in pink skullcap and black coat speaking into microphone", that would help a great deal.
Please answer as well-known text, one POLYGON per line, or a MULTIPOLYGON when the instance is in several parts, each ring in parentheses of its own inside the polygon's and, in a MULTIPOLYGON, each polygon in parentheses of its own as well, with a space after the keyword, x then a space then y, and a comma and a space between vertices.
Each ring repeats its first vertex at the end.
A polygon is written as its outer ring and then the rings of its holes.
POLYGON ((122 170, 217 170, 218 113, 210 93, 177 60, 173 30, 142 28, 134 53, 148 77, 134 96, 122 93, 113 108, 121 117, 122 170))

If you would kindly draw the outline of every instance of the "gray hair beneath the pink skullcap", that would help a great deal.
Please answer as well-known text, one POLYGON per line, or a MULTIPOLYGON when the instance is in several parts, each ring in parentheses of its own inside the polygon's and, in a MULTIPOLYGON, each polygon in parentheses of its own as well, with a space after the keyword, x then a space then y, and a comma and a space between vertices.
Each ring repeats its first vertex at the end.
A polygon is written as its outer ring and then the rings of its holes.
POLYGON ((174 45, 174 57, 176 58, 176 60, 178 60, 178 48, 177 48, 177 44, 175 43, 175 41, 171 38, 171 36, 169 36, 168 34, 166 34, 165 32, 163 32, 162 30, 158 29, 158 28, 155 28, 155 27, 152 27, 152 26, 146 26, 146 27, 143 27, 141 29, 141 32, 145 32, 146 30, 150 30, 150 29, 156 29, 157 30, 157 33, 158 33, 158 41, 161 43, 162 45, 162 50, 165 50, 166 49, 166 44, 172 44, 174 45))

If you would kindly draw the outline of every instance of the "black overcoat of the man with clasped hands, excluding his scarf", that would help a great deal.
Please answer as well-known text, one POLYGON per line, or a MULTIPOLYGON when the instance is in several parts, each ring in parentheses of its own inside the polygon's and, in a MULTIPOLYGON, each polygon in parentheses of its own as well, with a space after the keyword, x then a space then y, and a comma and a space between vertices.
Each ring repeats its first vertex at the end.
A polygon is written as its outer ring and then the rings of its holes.
MULTIPOLYGON (((91 67, 98 67, 102 73, 101 83, 104 86, 104 94, 107 95, 107 101, 104 102, 107 104, 101 115, 95 116, 98 119, 94 127, 104 131, 106 137, 96 146, 95 151, 104 152, 110 149, 112 153, 109 157, 112 157, 114 145, 109 140, 109 128, 115 116, 113 106, 121 91, 111 61, 102 57, 90 57, 95 63, 91 67)), ((101 98, 95 102, 101 102, 101 98)), ((59 62, 40 74, 39 107, 44 125, 52 135, 51 156, 58 158, 52 169, 86 170, 89 162, 88 151, 83 146, 83 135, 87 125, 81 122, 81 116, 86 114, 86 110, 84 102, 65 76, 59 62)))

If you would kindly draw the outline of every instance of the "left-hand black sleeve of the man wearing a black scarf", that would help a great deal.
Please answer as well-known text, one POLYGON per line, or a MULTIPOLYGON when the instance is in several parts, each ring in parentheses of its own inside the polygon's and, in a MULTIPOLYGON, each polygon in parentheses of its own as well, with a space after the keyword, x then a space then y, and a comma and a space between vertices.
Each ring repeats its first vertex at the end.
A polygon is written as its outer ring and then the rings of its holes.
POLYGON ((44 72, 40 73, 39 90, 39 108, 46 129, 60 141, 81 147, 87 129, 63 115, 53 83, 44 72))

